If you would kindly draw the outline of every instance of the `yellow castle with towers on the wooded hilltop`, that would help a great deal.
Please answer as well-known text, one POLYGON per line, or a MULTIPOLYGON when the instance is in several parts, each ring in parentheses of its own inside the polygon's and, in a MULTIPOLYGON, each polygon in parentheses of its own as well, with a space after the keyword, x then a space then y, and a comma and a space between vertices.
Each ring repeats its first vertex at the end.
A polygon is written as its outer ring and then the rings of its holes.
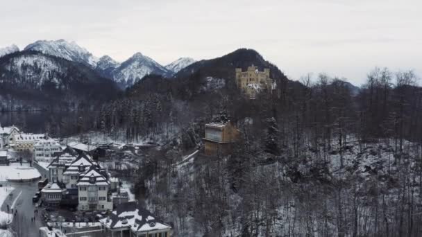
POLYGON ((236 85, 250 99, 255 99, 260 93, 271 94, 276 89, 274 80, 269 77, 269 69, 259 71, 253 65, 246 71, 236 69, 236 85))

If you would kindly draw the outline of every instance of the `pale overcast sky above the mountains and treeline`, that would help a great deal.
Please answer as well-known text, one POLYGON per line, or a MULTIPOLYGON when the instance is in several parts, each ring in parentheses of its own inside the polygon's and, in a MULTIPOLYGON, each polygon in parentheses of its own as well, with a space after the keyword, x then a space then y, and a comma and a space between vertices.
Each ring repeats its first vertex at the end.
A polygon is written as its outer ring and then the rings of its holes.
POLYGON ((161 64, 257 50, 289 78, 325 72, 360 85, 373 67, 422 76, 422 1, 1 1, 0 47, 75 41, 123 61, 161 64))

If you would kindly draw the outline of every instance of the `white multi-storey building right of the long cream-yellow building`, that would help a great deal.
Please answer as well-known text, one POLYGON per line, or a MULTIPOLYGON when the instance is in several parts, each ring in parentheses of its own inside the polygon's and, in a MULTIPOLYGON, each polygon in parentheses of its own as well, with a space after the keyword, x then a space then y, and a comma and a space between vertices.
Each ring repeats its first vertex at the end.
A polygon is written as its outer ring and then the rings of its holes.
POLYGON ((49 162, 62 151, 57 139, 40 139, 34 145, 34 159, 49 162))

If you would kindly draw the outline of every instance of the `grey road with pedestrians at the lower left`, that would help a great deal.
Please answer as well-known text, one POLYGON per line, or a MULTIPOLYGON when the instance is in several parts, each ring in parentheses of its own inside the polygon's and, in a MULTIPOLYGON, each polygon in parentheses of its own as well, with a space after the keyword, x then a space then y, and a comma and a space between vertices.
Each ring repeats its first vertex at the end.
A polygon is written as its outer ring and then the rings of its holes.
MULTIPOLYGON (((9 183, 15 190, 12 191, 12 197, 6 198, 1 206, 1 211, 8 211, 7 206, 13 211, 17 211, 13 218, 12 231, 19 237, 38 237, 40 236, 38 229, 45 226, 42 220, 41 209, 39 213, 34 214, 35 204, 32 202, 32 197, 38 191, 37 182, 29 183, 9 183), (34 218, 35 221, 31 221, 34 218)), ((9 227, 9 228, 10 228, 9 227)))

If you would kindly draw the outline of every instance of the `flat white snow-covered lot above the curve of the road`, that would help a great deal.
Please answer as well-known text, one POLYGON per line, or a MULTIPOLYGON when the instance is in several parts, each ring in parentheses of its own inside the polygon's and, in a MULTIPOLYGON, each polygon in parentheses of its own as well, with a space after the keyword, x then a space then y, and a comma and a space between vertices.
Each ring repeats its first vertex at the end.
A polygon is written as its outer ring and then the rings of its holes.
POLYGON ((41 177, 36 168, 30 167, 28 163, 10 163, 10 166, 0 166, 0 181, 9 179, 35 179, 41 177))

